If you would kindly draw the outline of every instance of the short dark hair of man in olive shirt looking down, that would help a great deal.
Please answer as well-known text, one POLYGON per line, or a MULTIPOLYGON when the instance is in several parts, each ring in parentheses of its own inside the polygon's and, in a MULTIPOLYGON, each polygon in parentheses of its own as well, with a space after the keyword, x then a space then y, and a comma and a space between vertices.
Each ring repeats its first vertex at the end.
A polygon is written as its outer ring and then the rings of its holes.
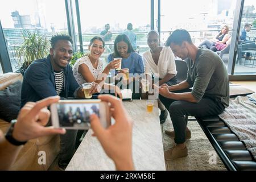
POLYGON ((168 37, 166 40, 166 46, 170 46, 171 43, 181 46, 183 42, 188 42, 192 44, 191 36, 187 30, 177 29, 168 37))

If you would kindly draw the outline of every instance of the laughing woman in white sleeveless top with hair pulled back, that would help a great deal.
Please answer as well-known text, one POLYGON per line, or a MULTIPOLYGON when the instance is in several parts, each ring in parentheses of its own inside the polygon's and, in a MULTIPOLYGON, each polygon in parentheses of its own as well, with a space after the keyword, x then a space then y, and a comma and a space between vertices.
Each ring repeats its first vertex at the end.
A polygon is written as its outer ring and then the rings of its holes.
POLYGON ((106 90, 114 90, 115 96, 122 98, 122 93, 118 86, 105 83, 106 77, 111 69, 119 67, 119 61, 113 60, 103 69, 103 60, 100 58, 104 52, 105 42, 99 36, 94 36, 90 40, 89 55, 81 57, 73 66, 73 75, 79 85, 85 82, 96 82, 106 90))

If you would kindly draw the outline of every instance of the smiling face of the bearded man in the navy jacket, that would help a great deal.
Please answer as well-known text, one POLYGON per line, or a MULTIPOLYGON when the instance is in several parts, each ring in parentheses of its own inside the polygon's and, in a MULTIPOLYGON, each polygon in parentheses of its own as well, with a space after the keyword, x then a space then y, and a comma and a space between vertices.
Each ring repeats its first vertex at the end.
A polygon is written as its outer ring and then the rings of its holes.
POLYGON ((72 59, 73 48, 68 40, 58 40, 54 48, 50 49, 51 62, 55 71, 67 67, 72 59))

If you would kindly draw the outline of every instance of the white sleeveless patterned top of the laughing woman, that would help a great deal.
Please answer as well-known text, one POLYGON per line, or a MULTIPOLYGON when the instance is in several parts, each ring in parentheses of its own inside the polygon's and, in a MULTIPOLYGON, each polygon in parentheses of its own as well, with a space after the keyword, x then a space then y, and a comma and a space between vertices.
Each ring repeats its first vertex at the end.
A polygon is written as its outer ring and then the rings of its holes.
POLYGON ((98 76, 103 72, 103 61, 101 59, 98 60, 98 67, 95 69, 88 56, 81 57, 80 59, 76 60, 76 63, 73 66, 73 75, 79 85, 86 83, 81 73, 78 72, 79 65, 81 64, 86 64, 88 66, 95 80, 97 80, 98 76))

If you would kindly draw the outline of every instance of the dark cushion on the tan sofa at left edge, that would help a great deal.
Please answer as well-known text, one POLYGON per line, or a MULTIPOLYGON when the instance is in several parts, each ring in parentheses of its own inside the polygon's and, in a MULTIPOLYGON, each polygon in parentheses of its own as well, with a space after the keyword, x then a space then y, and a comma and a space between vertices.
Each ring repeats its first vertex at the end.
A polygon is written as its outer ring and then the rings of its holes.
POLYGON ((18 116, 21 87, 22 82, 16 81, 0 91, 0 118, 7 122, 18 116))

